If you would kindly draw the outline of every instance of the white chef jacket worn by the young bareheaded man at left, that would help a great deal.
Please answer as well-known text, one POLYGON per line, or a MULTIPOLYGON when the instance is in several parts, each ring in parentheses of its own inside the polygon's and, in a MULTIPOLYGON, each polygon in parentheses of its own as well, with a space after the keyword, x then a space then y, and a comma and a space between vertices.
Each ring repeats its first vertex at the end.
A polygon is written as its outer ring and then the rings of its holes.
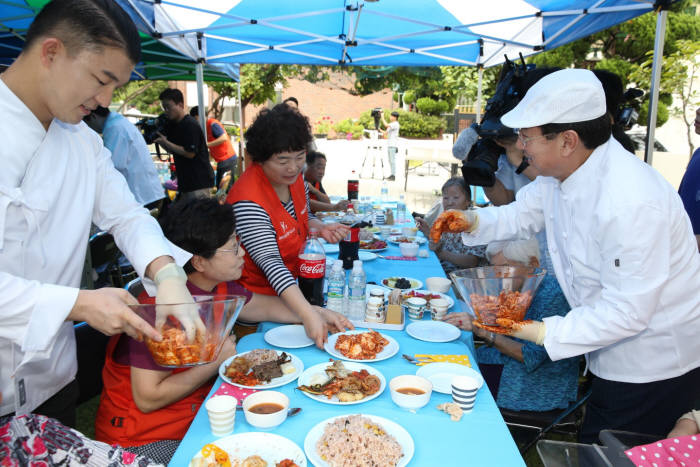
POLYGON ((172 255, 101 138, 84 123, 48 131, 0 79, 0 415, 31 412, 76 374, 73 323, 90 222, 143 277, 172 255))

